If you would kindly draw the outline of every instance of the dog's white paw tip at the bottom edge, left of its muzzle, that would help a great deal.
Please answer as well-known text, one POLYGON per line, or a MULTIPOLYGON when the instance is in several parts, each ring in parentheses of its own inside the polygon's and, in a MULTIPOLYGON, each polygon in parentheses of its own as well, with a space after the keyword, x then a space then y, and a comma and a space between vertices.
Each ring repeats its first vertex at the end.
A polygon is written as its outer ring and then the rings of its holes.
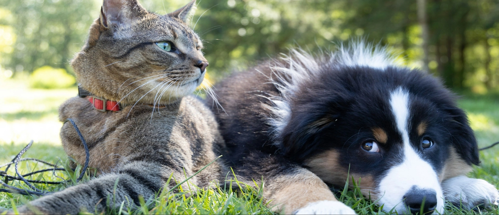
POLYGON ((338 201, 320 201, 309 203, 296 210, 295 215, 354 215, 355 211, 338 201))

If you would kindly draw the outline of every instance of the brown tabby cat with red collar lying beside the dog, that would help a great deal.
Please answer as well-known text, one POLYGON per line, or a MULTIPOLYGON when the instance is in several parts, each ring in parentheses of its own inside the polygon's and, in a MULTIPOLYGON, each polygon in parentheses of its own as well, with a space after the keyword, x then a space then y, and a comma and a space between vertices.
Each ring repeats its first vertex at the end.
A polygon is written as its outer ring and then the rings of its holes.
MULTIPOLYGON (((89 96, 70 98, 59 109, 62 122, 72 118, 78 125, 90 149, 89 166, 100 176, 29 202, 19 213, 101 213, 123 202, 137 205, 140 196, 147 200, 175 186, 175 180, 166 185, 172 174, 183 181, 218 157, 224 141, 214 116, 189 96, 208 66, 202 40, 187 24, 195 7, 193 0, 159 15, 137 0, 103 1, 71 62, 89 96)), ((84 163, 70 123, 60 137, 66 153, 84 163)), ((190 182, 206 187, 226 174, 217 160, 190 182)))

